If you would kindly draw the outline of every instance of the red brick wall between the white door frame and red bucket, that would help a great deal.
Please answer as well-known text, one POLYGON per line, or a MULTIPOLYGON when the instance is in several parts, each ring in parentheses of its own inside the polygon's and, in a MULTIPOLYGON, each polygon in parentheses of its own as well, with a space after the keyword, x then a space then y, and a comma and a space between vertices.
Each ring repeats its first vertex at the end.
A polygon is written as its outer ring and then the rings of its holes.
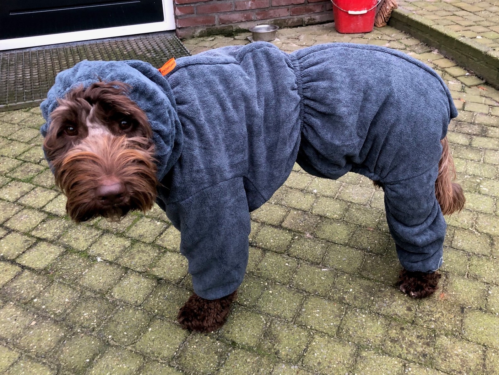
POLYGON ((177 35, 231 33, 261 23, 280 27, 333 19, 330 0, 175 0, 177 35))

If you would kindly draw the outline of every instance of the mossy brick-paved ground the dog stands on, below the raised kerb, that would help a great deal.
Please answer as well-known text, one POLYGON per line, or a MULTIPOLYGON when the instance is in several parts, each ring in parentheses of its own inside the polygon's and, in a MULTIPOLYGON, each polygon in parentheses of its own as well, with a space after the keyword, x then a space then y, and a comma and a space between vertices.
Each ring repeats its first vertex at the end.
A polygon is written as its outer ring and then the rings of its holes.
MULTIPOLYGON (((187 40, 193 53, 245 37, 187 40)), ((252 213, 250 262, 227 325, 175 323, 191 280, 158 208, 74 225, 40 148, 37 108, 0 113, 0 372, 7 374, 499 374, 499 92, 393 28, 279 31, 283 50, 386 45, 437 69, 459 117, 449 139, 468 203, 448 218, 432 298, 394 288, 383 193, 295 167, 252 213), (8 370, 7 370, 8 369, 8 370)))

